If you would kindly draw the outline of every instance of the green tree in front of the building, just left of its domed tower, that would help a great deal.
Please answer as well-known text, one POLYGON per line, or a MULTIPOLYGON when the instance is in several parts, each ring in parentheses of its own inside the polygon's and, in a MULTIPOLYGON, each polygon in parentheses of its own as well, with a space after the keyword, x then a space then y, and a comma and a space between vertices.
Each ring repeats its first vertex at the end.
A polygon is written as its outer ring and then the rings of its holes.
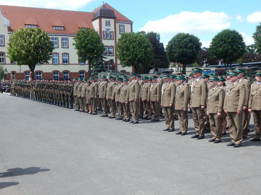
POLYGON ((94 29, 80 28, 73 39, 78 58, 84 62, 88 60, 89 75, 91 75, 91 67, 98 62, 104 51, 104 44, 100 40, 100 35, 94 29))

